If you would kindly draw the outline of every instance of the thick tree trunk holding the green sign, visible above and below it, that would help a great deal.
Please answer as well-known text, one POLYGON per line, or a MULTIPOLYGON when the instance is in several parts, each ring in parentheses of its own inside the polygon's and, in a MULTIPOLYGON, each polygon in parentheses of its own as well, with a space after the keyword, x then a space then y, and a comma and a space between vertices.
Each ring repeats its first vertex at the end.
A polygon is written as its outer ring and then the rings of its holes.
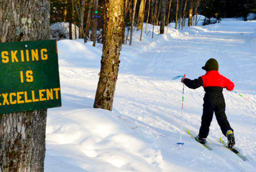
MULTIPOLYGON (((0 42, 49 39, 49 0, 1 0, 0 42)), ((47 110, 0 115, 0 171, 43 172, 47 110)))

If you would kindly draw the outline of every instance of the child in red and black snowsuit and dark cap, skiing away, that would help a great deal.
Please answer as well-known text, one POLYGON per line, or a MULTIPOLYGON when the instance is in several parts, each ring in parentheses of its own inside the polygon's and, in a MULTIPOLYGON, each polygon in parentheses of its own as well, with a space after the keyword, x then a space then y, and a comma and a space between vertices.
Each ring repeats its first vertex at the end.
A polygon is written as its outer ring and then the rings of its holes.
POLYGON ((200 143, 206 143, 209 127, 213 118, 213 112, 215 112, 221 131, 224 136, 228 138, 228 147, 231 148, 235 145, 234 130, 230 127, 225 114, 225 100, 222 90, 223 88, 226 88, 227 90, 232 91, 234 89, 234 83, 219 74, 219 65, 214 58, 210 58, 202 69, 206 70, 206 74, 198 79, 190 80, 182 77, 181 80, 181 82, 191 89, 197 89, 198 87, 203 86, 204 91, 206 92, 204 94, 201 127, 199 134, 195 139, 200 143))

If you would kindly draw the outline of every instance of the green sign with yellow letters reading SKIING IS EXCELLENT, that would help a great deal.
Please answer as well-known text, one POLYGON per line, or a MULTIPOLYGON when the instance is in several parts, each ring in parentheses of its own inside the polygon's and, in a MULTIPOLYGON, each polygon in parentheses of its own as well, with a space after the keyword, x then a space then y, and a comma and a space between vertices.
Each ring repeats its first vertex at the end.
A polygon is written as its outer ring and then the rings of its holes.
POLYGON ((0 43, 0 114, 60 106, 56 40, 0 43))

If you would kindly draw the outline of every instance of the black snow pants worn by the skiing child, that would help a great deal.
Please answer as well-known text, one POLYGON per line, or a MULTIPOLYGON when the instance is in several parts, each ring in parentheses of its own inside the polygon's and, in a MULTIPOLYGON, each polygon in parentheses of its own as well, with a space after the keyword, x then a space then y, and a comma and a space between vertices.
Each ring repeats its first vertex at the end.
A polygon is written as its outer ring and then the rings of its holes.
POLYGON ((215 112, 216 119, 224 136, 226 131, 233 129, 230 127, 228 119, 225 114, 225 100, 222 94, 221 87, 206 87, 203 104, 203 116, 199 136, 207 138, 209 134, 209 127, 212 122, 213 112, 215 112))

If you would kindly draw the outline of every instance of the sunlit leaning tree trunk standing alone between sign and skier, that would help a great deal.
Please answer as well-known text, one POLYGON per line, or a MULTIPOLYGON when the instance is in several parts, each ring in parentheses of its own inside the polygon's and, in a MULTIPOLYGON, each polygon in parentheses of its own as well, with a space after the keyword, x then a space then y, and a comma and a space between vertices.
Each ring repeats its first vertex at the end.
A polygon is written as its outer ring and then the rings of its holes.
POLYGON ((124 1, 105 0, 106 29, 101 59, 101 72, 95 96, 94 108, 112 110, 115 84, 119 69, 124 24, 124 1))

